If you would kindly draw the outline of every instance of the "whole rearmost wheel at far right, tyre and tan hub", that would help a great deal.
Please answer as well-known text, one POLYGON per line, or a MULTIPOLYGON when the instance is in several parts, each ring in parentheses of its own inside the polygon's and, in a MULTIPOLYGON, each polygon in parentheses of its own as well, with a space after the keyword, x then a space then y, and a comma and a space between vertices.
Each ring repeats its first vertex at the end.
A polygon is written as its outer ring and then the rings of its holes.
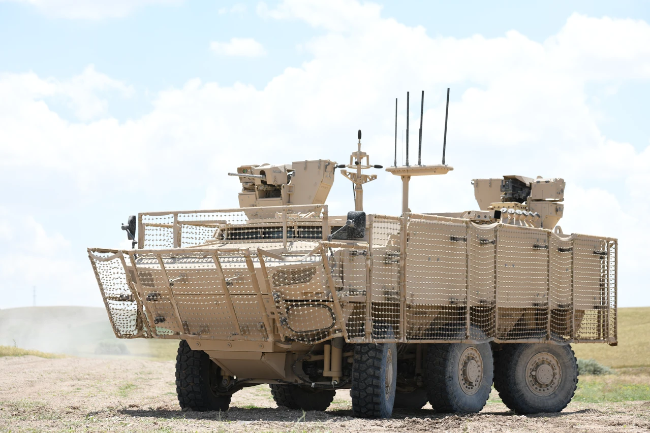
POLYGON ((495 352, 494 387, 517 414, 560 412, 578 385, 578 363, 569 345, 504 344, 495 352))

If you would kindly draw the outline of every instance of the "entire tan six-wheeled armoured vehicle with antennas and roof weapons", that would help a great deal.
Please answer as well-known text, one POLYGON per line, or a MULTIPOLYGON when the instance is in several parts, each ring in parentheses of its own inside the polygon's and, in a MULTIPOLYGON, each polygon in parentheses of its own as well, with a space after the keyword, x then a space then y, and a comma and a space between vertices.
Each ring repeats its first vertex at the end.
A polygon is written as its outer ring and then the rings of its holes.
MULTIPOLYGON (((578 369, 569 343, 616 345, 617 241, 564 234, 564 180, 474 179, 478 208, 409 207, 423 165, 402 179, 402 212, 363 212, 370 164, 328 159, 248 165, 240 208, 129 217, 133 249, 88 249, 118 338, 179 340, 182 408, 227 410, 231 395, 269 384, 280 406, 326 410, 350 389, 358 417, 393 408, 479 412, 492 384, 519 414, 559 412, 578 369), (335 169, 354 211, 328 214, 335 169), (135 246, 137 245, 137 248, 135 246)), ((447 112, 449 93, 447 90, 447 112)))

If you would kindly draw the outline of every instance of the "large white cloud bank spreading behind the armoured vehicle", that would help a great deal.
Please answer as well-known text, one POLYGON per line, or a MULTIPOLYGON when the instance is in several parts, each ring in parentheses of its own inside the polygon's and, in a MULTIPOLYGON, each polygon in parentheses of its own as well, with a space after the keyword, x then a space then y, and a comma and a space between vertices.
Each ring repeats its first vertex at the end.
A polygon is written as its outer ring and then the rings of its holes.
MULTIPOLYGON (((650 146, 604 136, 589 106, 595 85, 650 80, 647 23, 574 15, 558 34, 538 43, 517 31, 496 38, 432 37, 422 27, 383 19, 379 6, 354 1, 288 1, 274 10, 259 9, 269 19, 300 19, 325 30, 302 43, 311 60, 285 69, 261 89, 191 79, 182 88, 159 92, 151 112, 141 118, 120 123, 98 109, 103 118, 81 123, 61 119, 44 97, 66 95, 92 108, 96 104, 77 92, 92 95, 105 80, 89 73, 95 78, 71 80, 66 87, 32 73, 0 77, 0 143, 11 143, 0 146, 6 179, 19 173, 53 182, 75 179, 76 189, 60 192, 71 202, 86 197, 83 191, 101 197, 162 191, 161 207, 175 208, 179 195, 191 190, 201 191, 196 204, 237 206, 239 182, 227 178, 227 171, 240 164, 305 158, 343 162, 356 149, 357 129, 363 130, 372 162, 391 164, 394 98, 400 98, 401 136, 406 90, 411 90, 411 140, 419 127, 419 90, 425 90, 422 161, 439 162, 450 86, 447 162, 455 169, 443 177, 413 179, 411 192, 418 199, 411 207, 422 212, 475 208, 469 181, 476 177, 564 177, 564 231, 619 236, 625 288, 620 304, 632 299, 650 304, 643 290, 650 275, 634 258, 648 241, 635 234, 635 227, 649 211, 650 146), (597 41, 607 38, 625 45, 625 55, 599 50, 597 41), (133 164, 125 164, 123 155, 133 164)), ((217 47, 227 54, 233 41, 217 47)), ((105 86, 125 92, 120 85, 105 86)), ((417 140, 411 141, 411 155, 415 149, 417 140)), ((365 190, 368 212, 399 212, 398 179, 384 173, 365 190)), ((343 177, 337 176, 330 197, 331 214, 352 206, 343 177)), ((83 212, 102 212, 98 206, 83 212)), ((93 236, 99 234, 88 239, 93 236)), ((90 271, 87 263, 83 266, 90 271)))

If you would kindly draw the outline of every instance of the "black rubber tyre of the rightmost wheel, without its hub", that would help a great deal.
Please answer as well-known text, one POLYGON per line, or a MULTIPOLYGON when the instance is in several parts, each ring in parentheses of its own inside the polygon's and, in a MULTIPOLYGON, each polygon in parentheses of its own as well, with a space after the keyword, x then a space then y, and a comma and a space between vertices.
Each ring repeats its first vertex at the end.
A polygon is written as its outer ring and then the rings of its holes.
POLYGON ((522 415, 554 413, 561 412, 569 404, 578 386, 578 363, 571 346, 547 343, 511 343, 502 346, 503 349, 495 352, 494 387, 510 410, 522 415), (526 371, 527 366, 539 353, 551 354, 561 372, 555 390, 543 396, 532 391, 535 382, 530 382, 530 385, 526 383, 526 377, 530 376, 526 371))

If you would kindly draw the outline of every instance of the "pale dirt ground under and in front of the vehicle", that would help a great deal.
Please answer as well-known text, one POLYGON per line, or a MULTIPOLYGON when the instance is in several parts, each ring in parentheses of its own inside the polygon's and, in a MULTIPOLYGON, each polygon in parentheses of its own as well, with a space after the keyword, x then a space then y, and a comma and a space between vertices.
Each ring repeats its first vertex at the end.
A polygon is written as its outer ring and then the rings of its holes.
POLYGON ((0 432, 648 432, 650 402, 581 404, 561 414, 514 415, 496 396, 480 414, 395 410, 353 418, 348 391, 327 412, 277 408, 268 386, 233 396, 227 412, 183 412, 174 362, 35 356, 0 358, 0 432), (496 401, 495 401, 496 400, 496 401))

